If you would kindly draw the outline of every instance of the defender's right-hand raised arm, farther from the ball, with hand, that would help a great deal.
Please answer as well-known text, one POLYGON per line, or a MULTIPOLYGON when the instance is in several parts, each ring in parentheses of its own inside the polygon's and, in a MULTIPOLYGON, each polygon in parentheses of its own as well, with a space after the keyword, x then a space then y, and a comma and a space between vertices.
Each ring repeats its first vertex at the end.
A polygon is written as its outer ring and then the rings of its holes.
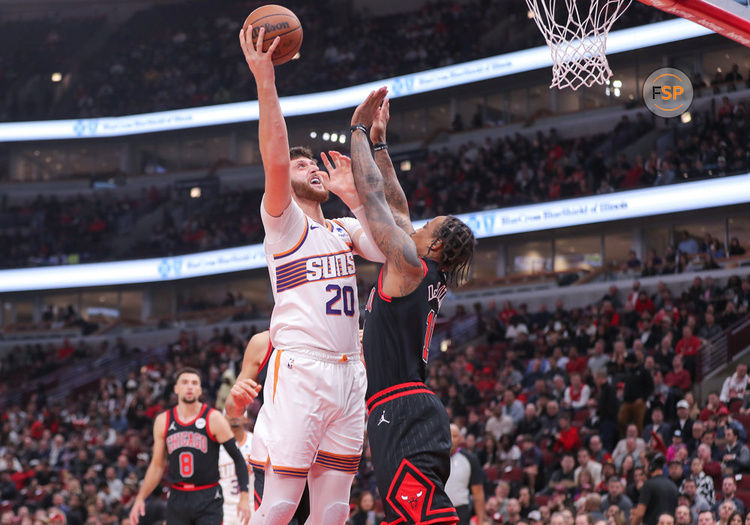
MULTIPOLYGON (((375 119, 372 122, 372 128, 370 128, 370 140, 373 144, 385 143, 386 128, 390 118, 390 103, 386 98, 375 113, 375 119)), ((406 200, 404 190, 398 182, 398 176, 393 168, 388 148, 376 149, 374 157, 375 164, 383 175, 385 200, 388 201, 388 206, 391 208, 393 220, 396 221, 399 228, 411 235, 414 233, 414 226, 409 219, 409 202, 406 200)))

